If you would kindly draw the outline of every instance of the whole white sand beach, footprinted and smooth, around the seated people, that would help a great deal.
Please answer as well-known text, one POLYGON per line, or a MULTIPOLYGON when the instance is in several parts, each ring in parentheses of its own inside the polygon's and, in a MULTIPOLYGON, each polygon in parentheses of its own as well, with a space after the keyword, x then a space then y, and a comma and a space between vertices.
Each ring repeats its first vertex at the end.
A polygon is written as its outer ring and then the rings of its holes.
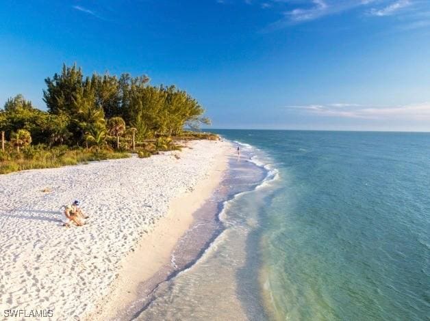
POLYGON ((190 146, 179 160, 166 153, 0 176, 1 317, 51 309, 53 320, 107 320, 134 301, 227 165, 229 143, 190 146), (73 199, 90 219, 66 229, 60 206, 73 199))

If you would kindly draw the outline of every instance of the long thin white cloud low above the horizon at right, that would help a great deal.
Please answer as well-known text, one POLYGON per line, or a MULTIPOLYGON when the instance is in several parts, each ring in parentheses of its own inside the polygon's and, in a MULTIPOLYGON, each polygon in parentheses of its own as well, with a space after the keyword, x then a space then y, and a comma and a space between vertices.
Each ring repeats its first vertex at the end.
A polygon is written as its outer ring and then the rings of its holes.
POLYGON ((430 121, 429 102, 396 107, 370 107, 360 104, 308 104, 303 106, 287 106, 286 108, 326 117, 430 121))

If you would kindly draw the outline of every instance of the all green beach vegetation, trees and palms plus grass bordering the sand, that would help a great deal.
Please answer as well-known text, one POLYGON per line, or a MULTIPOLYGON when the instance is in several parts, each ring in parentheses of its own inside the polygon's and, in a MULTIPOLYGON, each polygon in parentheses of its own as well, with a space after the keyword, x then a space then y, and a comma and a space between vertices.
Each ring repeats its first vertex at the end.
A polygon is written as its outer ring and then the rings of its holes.
POLYGON ((0 173, 75 165, 129 152, 147 157, 180 150, 177 141, 214 139, 199 102, 174 85, 150 85, 148 76, 94 73, 62 66, 45 79, 41 110, 18 94, 0 109, 0 173), (186 130, 190 128, 190 130, 186 130), (3 150, 3 145, 5 148, 3 150))

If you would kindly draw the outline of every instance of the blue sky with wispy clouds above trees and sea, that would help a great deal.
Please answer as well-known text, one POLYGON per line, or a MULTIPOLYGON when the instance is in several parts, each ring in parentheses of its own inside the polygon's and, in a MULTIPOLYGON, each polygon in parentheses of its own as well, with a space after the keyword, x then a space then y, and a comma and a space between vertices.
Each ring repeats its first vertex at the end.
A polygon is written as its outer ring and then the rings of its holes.
POLYGON ((430 130, 429 0, 1 1, 0 104, 62 63, 148 74, 214 128, 430 130))

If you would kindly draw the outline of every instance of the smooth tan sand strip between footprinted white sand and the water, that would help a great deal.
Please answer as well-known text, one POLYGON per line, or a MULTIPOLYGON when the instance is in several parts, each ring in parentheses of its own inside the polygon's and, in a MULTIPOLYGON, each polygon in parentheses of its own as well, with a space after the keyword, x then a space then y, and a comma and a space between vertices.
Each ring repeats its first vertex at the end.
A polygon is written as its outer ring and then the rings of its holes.
POLYGON ((101 298, 95 311, 84 316, 84 320, 121 320, 131 307, 136 307, 142 295, 150 295, 158 284, 166 281, 172 273, 172 255, 181 238, 192 227, 195 214, 214 193, 228 169, 229 150, 225 147, 216 163, 207 173, 207 178, 197 183, 191 192, 181 193, 170 200, 168 214, 149 234, 138 241, 136 250, 124 258, 118 277, 110 285, 110 293, 101 298), (147 249, 151 249, 148 251, 147 249), (170 267, 170 268, 168 268, 170 267))

